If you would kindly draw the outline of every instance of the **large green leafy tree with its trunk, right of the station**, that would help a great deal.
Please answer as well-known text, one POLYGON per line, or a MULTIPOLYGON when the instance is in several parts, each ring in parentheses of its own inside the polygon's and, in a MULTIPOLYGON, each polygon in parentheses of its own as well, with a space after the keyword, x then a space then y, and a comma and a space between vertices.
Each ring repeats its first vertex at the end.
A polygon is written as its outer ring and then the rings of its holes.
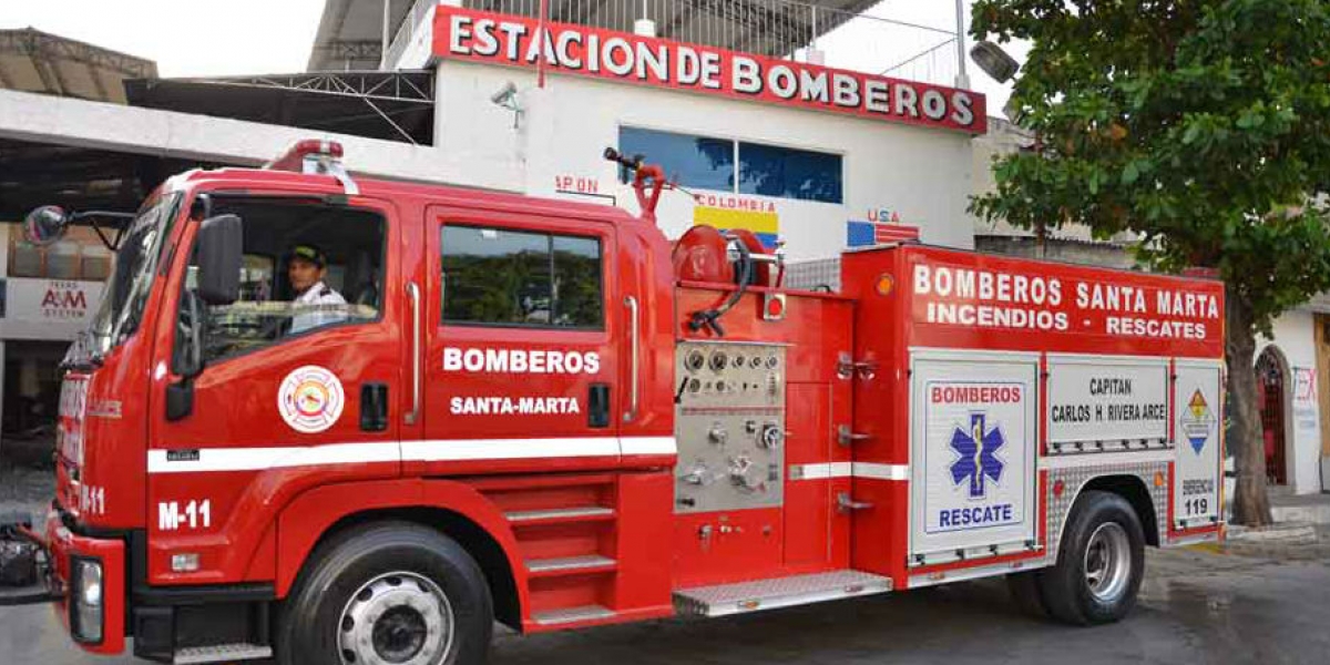
POLYGON ((1012 96, 1035 150, 971 210, 1134 231, 1154 270, 1225 282, 1234 520, 1270 521, 1256 334, 1330 287, 1330 4, 976 0, 974 35, 1029 40, 1012 96))

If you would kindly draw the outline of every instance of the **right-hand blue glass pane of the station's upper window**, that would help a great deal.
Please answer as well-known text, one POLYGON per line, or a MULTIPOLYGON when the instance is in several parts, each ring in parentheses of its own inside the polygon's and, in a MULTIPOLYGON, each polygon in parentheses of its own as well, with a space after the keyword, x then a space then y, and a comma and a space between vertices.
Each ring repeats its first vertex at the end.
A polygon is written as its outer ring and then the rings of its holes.
POLYGON ((739 144, 739 193, 841 203, 841 156, 739 144))

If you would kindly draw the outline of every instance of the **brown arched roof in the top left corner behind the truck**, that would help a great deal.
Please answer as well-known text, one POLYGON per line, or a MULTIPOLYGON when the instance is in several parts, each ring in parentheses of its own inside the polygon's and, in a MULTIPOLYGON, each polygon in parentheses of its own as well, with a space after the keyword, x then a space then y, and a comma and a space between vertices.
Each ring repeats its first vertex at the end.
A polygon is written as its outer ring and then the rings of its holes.
POLYGON ((33 28, 0 31, 0 88, 125 104, 125 78, 157 64, 33 28))

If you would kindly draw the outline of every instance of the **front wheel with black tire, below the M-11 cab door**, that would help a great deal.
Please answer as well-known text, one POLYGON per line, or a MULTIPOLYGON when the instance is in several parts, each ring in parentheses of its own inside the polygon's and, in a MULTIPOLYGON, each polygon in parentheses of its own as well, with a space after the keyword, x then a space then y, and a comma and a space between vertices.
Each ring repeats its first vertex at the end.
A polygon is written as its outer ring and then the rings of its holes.
POLYGON ((484 573, 456 541, 419 524, 350 529, 301 571, 277 626, 283 665, 477 665, 493 604, 484 573))

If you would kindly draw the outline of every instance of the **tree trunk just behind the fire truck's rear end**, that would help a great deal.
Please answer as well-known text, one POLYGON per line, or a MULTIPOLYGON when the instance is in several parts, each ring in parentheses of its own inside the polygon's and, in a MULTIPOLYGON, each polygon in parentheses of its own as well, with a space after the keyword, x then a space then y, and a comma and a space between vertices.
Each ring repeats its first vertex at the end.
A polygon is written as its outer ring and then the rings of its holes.
POLYGON ((1229 428, 1228 448, 1233 451, 1238 479, 1233 492, 1233 521, 1248 527, 1273 523, 1270 497, 1265 483, 1265 440, 1261 436, 1261 416, 1256 403, 1256 329, 1252 325, 1252 306, 1233 289, 1225 298, 1228 334, 1224 340, 1229 366, 1229 428))

